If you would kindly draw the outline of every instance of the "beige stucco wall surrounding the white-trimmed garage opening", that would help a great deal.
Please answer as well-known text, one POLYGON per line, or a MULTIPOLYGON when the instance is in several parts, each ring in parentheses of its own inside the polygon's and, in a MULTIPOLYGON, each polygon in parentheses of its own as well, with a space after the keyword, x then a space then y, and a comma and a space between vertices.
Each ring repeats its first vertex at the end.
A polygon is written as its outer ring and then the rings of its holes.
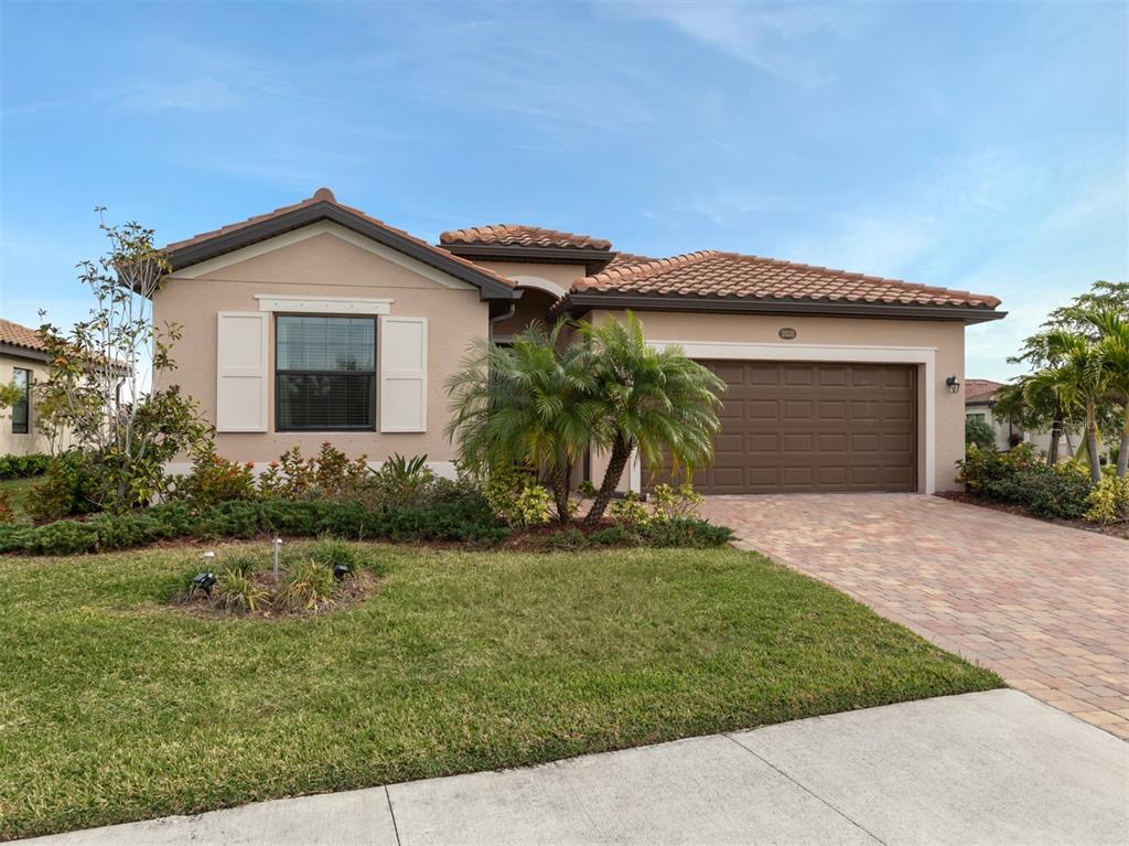
MULTIPOLYGON (((614 312, 593 312, 590 320, 614 317, 614 312)), ((926 478, 925 391, 931 391, 935 408, 935 483, 937 490, 959 488, 953 477, 955 462, 964 454, 964 396, 952 394, 945 385, 955 375, 964 383, 964 324, 940 321, 863 320, 841 317, 778 317, 752 314, 680 314, 642 312, 639 315, 649 341, 772 343, 786 348, 795 344, 829 347, 912 347, 936 350, 933 384, 926 383, 925 367, 918 367, 918 482, 926 478), (780 340, 778 332, 789 326, 796 330, 791 341, 780 340)), ((606 456, 594 454, 592 477, 598 485, 607 466, 606 456)), ((628 473, 620 481, 628 489, 628 473)))

